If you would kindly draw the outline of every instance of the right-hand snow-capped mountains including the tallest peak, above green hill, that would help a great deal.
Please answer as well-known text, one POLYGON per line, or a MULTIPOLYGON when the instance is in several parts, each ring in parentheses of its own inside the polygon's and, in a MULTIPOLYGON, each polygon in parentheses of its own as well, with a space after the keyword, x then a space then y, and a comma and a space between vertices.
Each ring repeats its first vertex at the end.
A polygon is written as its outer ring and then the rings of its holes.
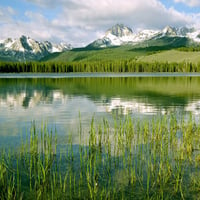
POLYGON ((185 37, 193 42, 200 42, 200 30, 194 28, 174 28, 166 26, 163 30, 141 30, 133 32, 131 28, 116 24, 108 29, 100 39, 95 40, 88 47, 103 48, 125 44, 138 44, 147 40, 156 40, 162 37, 185 37))

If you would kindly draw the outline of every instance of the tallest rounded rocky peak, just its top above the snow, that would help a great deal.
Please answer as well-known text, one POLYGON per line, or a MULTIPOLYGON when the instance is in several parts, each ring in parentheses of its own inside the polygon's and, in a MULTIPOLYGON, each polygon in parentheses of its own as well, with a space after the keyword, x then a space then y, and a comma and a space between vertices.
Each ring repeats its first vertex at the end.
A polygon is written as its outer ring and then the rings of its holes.
POLYGON ((123 25, 123 24, 116 24, 112 28, 108 29, 106 32, 106 36, 108 34, 115 35, 117 37, 124 37, 124 36, 130 36, 133 34, 133 31, 131 28, 123 25))

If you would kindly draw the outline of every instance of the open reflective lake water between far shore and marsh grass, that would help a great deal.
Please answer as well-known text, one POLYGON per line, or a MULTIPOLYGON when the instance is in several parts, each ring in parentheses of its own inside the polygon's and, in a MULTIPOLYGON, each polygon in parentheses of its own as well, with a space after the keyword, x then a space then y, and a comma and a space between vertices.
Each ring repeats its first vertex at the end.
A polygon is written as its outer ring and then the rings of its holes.
POLYGON ((198 74, 70 74, 0 76, 0 146, 20 143, 35 121, 73 133, 79 113, 85 129, 94 116, 148 119, 172 113, 200 115, 198 74))

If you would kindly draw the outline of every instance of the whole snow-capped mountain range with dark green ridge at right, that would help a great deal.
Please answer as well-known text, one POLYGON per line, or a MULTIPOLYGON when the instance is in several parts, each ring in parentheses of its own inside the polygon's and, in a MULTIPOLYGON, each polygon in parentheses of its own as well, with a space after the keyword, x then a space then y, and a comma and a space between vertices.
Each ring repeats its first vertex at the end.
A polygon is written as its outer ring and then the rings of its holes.
MULTIPOLYGON (((131 46, 134 49, 166 50, 178 47, 199 46, 200 30, 187 27, 166 26, 162 30, 133 31, 131 28, 116 24, 105 32, 105 35, 84 48, 73 49, 70 44, 54 44, 49 41, 39 42, 27 36, 18 39, 8 38, 0 40, 0 60, 3 61, 40 61, 48 60, 60 55, 60 53, 72 50, 76 57, 71 60, 80 60, 84 55, 79 51, 105 49, 108 47, 131 46)), ((70 51, 71 52, 71 51, 70 51)), ((69 56, 63 54, 62 56, 69 56)), ((65 58, 64 60, 67 60, 65 58)))

